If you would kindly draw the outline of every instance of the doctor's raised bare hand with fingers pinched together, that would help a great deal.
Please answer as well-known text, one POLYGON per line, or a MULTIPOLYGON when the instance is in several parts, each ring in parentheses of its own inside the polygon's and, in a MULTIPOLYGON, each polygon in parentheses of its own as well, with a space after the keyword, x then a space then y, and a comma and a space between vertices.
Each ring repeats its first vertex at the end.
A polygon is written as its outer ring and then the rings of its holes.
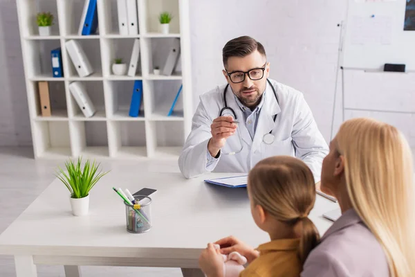
POLYGON ((232 123, 233 121, 234 118, 232 116, 219 116, 210 125, 212 139, 208 143, 208 150, 212 157, 216 157, 219 150, 225 145, 226 139, 236 132, 237 125, 232 123))

